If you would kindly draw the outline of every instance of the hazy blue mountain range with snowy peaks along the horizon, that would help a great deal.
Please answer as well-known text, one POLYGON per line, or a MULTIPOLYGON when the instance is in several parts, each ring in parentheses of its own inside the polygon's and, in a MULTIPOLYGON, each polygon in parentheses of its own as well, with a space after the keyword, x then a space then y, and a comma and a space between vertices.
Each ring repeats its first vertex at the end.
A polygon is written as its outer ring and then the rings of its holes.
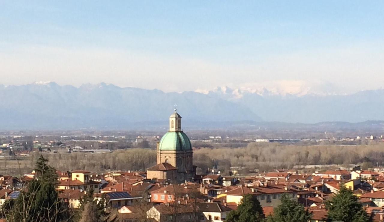
POLYGON ((186 122, 203 125, 384 120, 384 90, 281 95, 266 89, 219 87, 205 93, 166 93, 106 83, 74 87, 40 82, 0 85, 0 105, 1 129, 140 129, 166 123, 175 107, 186 122))

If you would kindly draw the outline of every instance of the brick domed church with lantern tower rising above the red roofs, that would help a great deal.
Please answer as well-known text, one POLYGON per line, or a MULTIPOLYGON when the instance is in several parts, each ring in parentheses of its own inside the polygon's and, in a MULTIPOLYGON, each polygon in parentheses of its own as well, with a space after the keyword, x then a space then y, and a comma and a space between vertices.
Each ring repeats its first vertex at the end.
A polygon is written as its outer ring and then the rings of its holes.
POLYGON ((195 172, 192 145, 175 110, 169 117, 168 132, 157 143, 157 165, 147 169, 147 179, 191 181, 195 172))

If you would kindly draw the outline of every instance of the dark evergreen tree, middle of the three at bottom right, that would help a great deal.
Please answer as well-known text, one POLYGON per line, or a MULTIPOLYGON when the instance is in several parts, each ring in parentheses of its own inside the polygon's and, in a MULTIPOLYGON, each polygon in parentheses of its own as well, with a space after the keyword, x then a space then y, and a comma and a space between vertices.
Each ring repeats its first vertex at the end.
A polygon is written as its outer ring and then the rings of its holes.
POLYGON ((288 195, 281 197, 281 204, 273 210, 273 216, 268 217, 268 222, 308 222, 312 215, 304 206, 288 195))

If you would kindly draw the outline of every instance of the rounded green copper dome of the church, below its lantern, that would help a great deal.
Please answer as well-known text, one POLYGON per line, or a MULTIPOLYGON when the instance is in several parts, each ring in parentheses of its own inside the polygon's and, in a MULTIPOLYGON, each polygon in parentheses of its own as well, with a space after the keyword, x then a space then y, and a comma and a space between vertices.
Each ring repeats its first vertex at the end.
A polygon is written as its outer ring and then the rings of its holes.
POLYGON ((192 146, 184 132, 167 132, 160 140, 159 150, 192 150, 192 146))

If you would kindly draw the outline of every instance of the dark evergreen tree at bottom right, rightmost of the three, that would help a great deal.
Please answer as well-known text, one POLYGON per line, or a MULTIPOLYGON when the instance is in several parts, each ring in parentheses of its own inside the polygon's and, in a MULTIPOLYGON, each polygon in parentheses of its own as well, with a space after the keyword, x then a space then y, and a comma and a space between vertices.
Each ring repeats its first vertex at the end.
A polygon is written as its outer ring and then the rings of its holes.
POLYGON ((326 202, 328 218, 331 221, 370 222, 371 217, 358 201, 358 197, 345 187, 341 187, 339 194, 326 202))

